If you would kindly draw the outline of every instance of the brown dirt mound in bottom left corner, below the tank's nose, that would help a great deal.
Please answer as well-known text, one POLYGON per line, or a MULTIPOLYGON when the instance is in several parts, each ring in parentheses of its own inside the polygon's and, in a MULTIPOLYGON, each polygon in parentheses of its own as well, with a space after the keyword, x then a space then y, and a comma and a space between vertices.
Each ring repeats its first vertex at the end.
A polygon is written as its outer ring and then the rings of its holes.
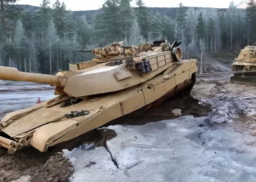
POLYGON ((25 149, 15 155, 8 155, 0 149, 0 181, 15 181, 24 175, 31 176, 31 182, 68 181, 73 167, 61 152, 41 154, 34 149, 25 149))

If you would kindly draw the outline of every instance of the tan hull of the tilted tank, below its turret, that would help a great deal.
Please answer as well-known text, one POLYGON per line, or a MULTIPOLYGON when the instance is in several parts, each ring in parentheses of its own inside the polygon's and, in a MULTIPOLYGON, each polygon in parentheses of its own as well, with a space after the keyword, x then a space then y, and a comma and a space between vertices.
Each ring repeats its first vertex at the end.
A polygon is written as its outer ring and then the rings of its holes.
POLYGON ((67 107, 60 107, 64 98, 59 98, 60 101, 55 100, 56 104, 49 100, 39 106, 7 114, 2 119, 5 125, 1 123, 1 134, 10 140, 9 143, 14 141, 15 144, 8 146, 0 138, 0 144, 4 143, 0 146, 8 149, 10 154, 24 146, 48 151, 48 147, 70 141, 134 111, 158 106, 187 88, 191 90, 196 72, 196 60, 183 60, 148 82, 127 90, 86 97, 80 103, 67 107), (89 111, 89 114, 64 117, 70 111, 81 110, 89 111))

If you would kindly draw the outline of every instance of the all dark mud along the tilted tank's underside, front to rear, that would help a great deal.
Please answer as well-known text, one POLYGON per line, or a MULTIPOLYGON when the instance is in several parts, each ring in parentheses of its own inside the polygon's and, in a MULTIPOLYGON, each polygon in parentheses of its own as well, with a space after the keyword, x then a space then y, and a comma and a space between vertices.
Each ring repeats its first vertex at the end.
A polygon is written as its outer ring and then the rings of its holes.
MULTIPOLYGON (((39 90, 41 92, 42 90, 39 90)), ((33 91, 34 92, 34 91, 33 91)), ((37 92, 36 95, 39 95, 37 92)), ((35 99, 37 96, 33 97, 35 99)), ((15 99, 13 99, 15 100, 15 99)), ((33 100, 34 101, 34 100, 33 100)), ((176 118, 171 111, 175 108, 182 109, 182 116, 206 116, 211 111, 211 106, 201 106, 199 100, 192 97, 177 95, 176 98, 162 103, 157 108, 151 108, 143 114, 129 114, 121 119, 116 119, 110 124, 146 124, 159 122, 163 119, 176 118), (135 122, 136 121, 136 122, 135 122), (138 122, 139 121, 139 122, 138 122)), ((47 154, 41 154, 35 149, 24 149, 13 156, 0 149, 0 181, 15 181, 22 176, 30 176, 27 181, 68 181, 73 173, 71 163, 62 157, 61 149, 73 149, 83 146, 83 143, 96 143, 96 146, 104 146, 105 140, 113 138, 115 133, 111 131, 100 132, 94 130, 88 135, 83 135, 73 141, 63 143, 47 154)), ((24 178, 21 178, 24 181, 24 178)))

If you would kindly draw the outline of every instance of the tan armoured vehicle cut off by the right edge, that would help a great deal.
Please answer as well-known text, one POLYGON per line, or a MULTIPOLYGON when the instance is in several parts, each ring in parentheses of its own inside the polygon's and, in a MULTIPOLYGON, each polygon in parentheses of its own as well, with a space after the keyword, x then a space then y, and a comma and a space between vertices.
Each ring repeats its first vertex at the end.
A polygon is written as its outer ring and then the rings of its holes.
POLYGON ((231 83, 256 84, 256 44, 244 47, 232 65, 233 71, 244 71, 244 73, 231 76, 231 83))

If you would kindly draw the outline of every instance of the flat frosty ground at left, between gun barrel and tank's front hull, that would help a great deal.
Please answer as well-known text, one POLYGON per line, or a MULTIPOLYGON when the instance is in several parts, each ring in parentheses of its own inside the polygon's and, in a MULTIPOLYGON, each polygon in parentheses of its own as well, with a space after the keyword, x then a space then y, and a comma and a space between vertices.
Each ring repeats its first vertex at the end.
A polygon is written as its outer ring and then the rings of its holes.
POLYGON ((53 98, 53 92, 54 88, 48 84, 0 80, 0 120, 11 111, 33 106, 38 98, 41 101, 53 98))

